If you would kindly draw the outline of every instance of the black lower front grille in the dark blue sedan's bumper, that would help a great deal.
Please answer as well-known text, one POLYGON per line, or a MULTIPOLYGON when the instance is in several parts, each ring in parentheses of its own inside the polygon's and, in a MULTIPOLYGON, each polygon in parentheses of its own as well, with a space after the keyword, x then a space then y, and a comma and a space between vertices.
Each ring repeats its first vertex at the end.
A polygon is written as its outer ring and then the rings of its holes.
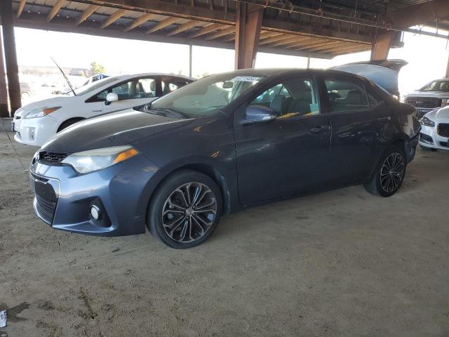
POLYGON ((36 198, 36 211, 42 220, 51 224, 55 215, 56 204, 58 204, 58 196, 55 189, 48 179, 34 176, 33 174, 30 179, 34 197, 36 198))

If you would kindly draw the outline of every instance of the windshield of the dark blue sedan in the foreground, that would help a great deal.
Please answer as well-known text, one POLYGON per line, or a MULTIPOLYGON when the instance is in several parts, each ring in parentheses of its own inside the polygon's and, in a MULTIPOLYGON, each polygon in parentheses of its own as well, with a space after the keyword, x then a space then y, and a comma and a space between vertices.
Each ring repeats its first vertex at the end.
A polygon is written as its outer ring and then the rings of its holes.
POLYGON ((212 75, 155 100, 151 109, 170 109, 189 118, 215 114, 263 78, 258 74, 212 75))

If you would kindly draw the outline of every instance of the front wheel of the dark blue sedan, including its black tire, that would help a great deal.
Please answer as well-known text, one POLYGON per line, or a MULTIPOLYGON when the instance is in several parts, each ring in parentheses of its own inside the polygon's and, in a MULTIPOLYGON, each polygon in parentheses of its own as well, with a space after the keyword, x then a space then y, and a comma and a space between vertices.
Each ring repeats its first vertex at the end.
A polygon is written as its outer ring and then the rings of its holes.
POLYGON ((176 171, 154 192, 147 227, 167 246, 187 249, 210 237, 221 214, 222 194, 210 177, 198 171, 176 171))

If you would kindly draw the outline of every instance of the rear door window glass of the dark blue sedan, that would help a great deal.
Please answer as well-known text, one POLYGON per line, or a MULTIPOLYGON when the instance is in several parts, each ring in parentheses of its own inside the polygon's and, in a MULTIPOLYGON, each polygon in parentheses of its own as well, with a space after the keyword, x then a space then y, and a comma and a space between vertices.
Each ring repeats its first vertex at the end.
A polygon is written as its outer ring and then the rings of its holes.
POLYGON ((326 79, 329 112, 368 109, 368 98, 364 86, 340 79, 326 79))

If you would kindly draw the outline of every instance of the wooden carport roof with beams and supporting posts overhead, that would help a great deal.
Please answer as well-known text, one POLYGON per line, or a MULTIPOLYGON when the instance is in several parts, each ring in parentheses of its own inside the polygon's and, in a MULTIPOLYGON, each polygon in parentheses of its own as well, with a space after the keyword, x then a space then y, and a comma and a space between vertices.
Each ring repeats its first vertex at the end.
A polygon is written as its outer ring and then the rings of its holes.
POLYGON ((232 48, 236 69, 254 67, 257 51, 333 58, 370 50, 381 60, 409 27, 449 27, 447 0, 1 0, 0 11, 4 117, 20 107, 13 27, 232 48))

